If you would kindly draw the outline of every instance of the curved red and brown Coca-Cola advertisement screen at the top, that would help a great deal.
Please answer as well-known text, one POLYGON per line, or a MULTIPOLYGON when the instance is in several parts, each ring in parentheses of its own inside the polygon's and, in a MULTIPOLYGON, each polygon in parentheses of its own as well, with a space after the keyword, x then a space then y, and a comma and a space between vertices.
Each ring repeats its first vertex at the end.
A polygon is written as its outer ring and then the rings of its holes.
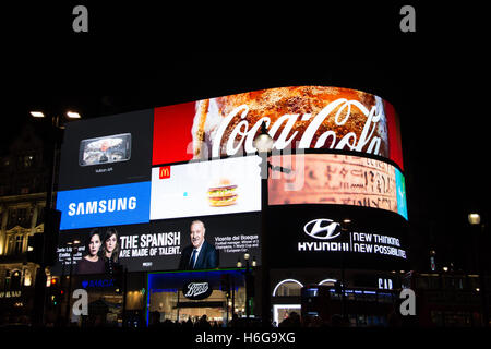
POLYGON ((273 149, 366 153, 403 169, 393 106, 364 92, 322 86, 268 88, 156 108, 153 165, 254 153, 263 122, 273 149))

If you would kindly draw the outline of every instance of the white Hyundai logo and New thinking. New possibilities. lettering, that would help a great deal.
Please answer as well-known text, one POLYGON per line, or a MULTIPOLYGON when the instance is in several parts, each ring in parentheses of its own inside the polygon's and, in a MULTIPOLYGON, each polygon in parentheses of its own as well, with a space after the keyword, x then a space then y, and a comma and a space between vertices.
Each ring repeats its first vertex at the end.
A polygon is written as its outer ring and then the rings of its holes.
POLYGON ((369 231, 349 231, 328 218, 318 218, 303 226, 310 239, 298 242, 299 252, 355 252, 381 254, 406 260, 397 238, 369 231))

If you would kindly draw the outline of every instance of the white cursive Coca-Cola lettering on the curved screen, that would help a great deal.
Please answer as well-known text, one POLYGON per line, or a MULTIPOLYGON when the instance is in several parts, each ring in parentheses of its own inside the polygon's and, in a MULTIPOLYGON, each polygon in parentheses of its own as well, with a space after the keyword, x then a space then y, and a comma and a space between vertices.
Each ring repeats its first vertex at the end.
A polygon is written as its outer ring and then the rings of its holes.
MULTIPOLYGON (((346 98, 339 98, 327 104, 316 116, 311 113, 292 113, 284 115, 276 119, 272 124, 271 118, 264 116, 260 118, 252 127, 250 127, 247 120, 249 112, 248 105, 241 105, 235 108, 228 116, 226 116, 215 133, 212 145, 212 156, 219 157, 220 151, 225 145, 226 155, 238 154, 242 148, 246 153, 254 153, 256 149, 253 145, 254 137, 258 131, 261 129, 263 122, 266 123, 270 135, 275 140, 273 147, 280 151, 287 147, 295 148, 321 148, 328 145, 334 149, 349 149, 355 152, 366 152, 374 155, 381 154, 382 139, 380 133, 375 135, 375 130, 380 122, 385 122, 385 115, 382 105, 382 99, 376 97, 376 103, 368 109, 363 104, 358 100, 348 100, 346 98), (351 118, 351 110, 357 108, 366 116, 364 124, 361 132, 348 132, 340 140, 337 141, 337 129, 346 127, 348 120, 351 118), (236 122, 236 127, 229 133, 228 139, 224 140, 224 134, 232 123, 232 119, 240 118, 240 122, 236 122), (315 144, 312 144, 314 135, 320 130, 324 120, 333 118, 336 128, 332 130, 325 130, 320 136, 316 137, 315 144), (383 121, 382 121, 383 120, 383 121), (300 135, 299 131, 292 132, 294 125, 298 121, 307 121, 308 127, 300 135), (278 130, 283 128, 279 135, 278 130), (298 144, 291 144, 294 139, 300 136, 298 144), (287 139, 288 137, 288 139, 287 139)), ((385 125, 384 125, 385 128, 385 125)))

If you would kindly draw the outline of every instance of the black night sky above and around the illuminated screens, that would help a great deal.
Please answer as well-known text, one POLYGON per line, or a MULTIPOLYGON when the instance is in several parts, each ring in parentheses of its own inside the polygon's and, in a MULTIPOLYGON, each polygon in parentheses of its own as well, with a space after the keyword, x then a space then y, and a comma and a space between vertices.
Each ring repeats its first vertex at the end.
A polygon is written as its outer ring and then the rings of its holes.
POLYGON ((415 252, 426 260, 435 245, 458 265, 467 213, 486 214, 489 192, 483 11, 415 4, 417 31, 402 33, 402 4, 91 4, 85 34, 72 32, 74 4, 13 7, 1 153, 33 109, 94 118, 287 85, 361 89, 399 113, 415 252))

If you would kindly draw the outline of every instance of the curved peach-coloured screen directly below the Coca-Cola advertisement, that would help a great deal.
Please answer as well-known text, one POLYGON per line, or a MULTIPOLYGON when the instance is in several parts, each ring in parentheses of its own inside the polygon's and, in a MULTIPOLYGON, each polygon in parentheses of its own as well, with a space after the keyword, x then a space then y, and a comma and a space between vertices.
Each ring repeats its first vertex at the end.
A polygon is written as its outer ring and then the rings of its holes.
POLYGON ((381 208, 407 219, 403 173, 393 165, 340 154, 272 156, 268 204, 336 204, 381 208))

